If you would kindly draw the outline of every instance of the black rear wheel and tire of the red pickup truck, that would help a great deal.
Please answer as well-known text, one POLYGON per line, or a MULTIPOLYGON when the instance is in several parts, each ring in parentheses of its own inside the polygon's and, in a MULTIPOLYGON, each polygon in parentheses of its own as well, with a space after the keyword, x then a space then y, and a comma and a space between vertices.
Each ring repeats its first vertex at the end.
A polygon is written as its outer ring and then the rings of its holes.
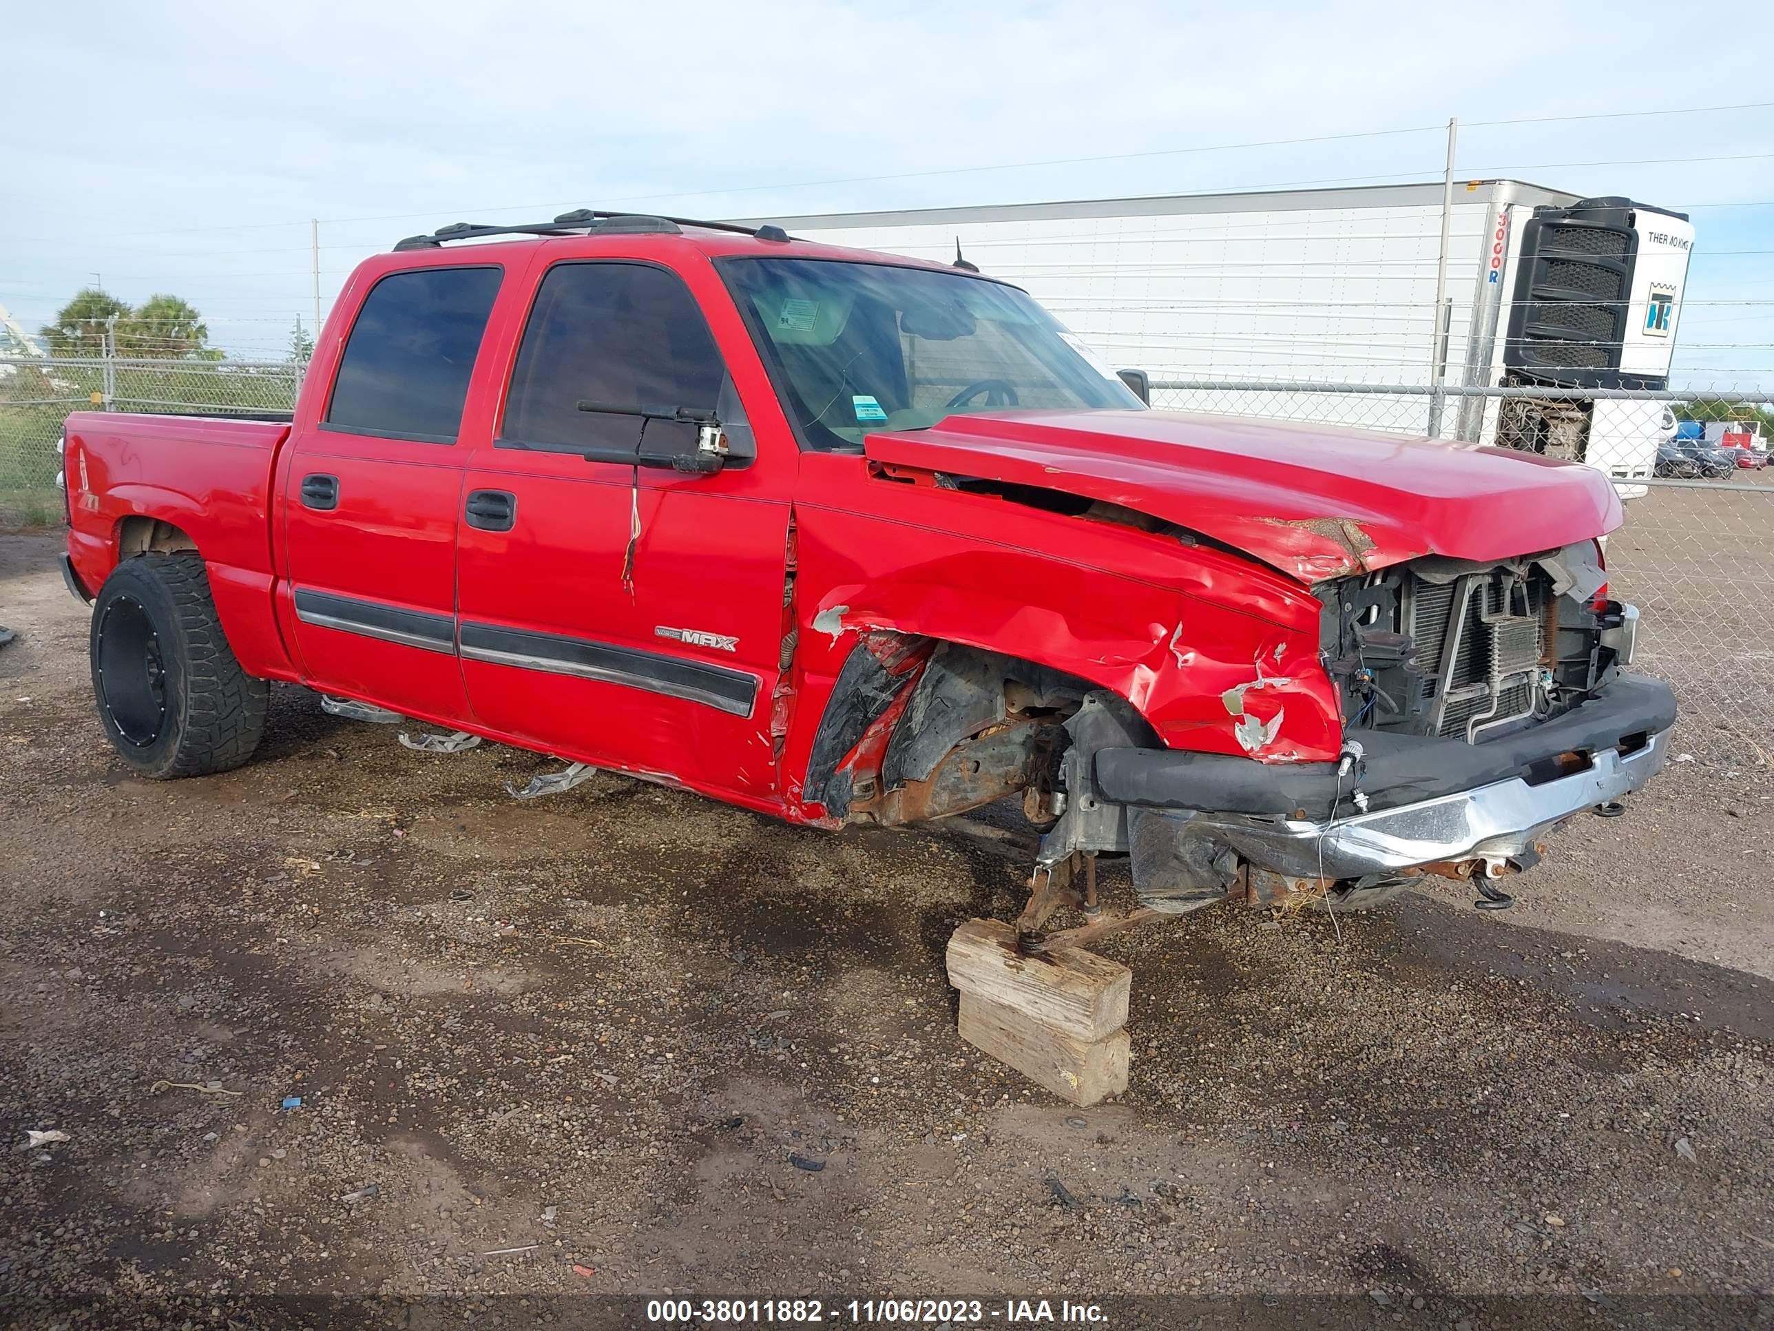
POLYGON ((259 747, 271 687, 234 658, 195 554, 117 564, 92 603, 90 655, 105 736, 137 776, 227 772, 259 747))

